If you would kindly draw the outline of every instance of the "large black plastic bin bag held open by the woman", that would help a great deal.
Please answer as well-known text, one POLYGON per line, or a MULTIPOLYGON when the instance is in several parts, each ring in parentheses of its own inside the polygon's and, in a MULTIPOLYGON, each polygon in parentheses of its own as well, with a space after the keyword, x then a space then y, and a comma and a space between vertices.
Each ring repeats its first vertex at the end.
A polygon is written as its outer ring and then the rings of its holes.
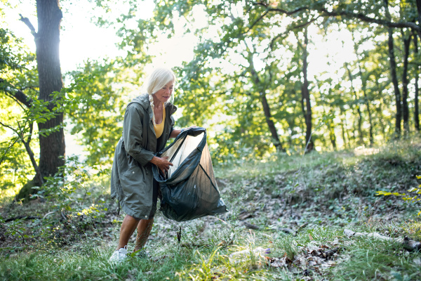
POLYGON ((183 131, 157 157, 168 156, 173 163, 164 175, 153 166, 154 178, 161 187, 161 211, 175 221, 190 221, 202 216, 225 213, 206 143, 206 129, 183 131))

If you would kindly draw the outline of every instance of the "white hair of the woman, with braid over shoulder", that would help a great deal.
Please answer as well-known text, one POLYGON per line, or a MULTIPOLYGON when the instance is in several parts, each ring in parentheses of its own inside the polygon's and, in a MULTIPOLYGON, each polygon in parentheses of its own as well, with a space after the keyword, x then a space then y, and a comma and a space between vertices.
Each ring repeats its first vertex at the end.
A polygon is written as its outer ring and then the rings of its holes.
MULTIPOLYGON (((153 113, 153 122, 155 123, 155 113, 154 113, 154 93, 156 93, 157 91, 159 91, 160 89, 163 88, 163 86, 165 86, 166 84, 168 84, 169 82, 173 81, 174 84, 177 81, 177 77, 175 77, 175 74, 173 72, 173 70, 169 69, 169 68, 164 68, 164 67, 159 67, 156 68, 154 71, 152 71, 152 73, 149 75, 149 77, 147 78, 144 87, 145 90, 147 92, 147 94, 149 95, 149 103, 152 107, 152 113, 153 113)), ((171 101, 174 100, 174 96, 171 94, 171 100, 167 100, 166 103, 164 103, 164 106, 167 105, 167 103, 170 103, 171 101)), ((164 120, 163 120, 164 121, 164 120)))

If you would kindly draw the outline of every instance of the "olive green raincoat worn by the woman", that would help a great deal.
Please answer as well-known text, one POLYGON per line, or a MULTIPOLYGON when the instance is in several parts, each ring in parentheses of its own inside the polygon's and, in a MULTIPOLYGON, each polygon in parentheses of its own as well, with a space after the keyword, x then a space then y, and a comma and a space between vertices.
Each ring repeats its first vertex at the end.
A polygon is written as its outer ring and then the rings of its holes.
POLYGON ((165 148, 174 129, 177 107, 166 105, 162 136, 156 139, 149 96, 143 94, 127 105, 123 136, 117 143, 111 174, 111 197, 117 198, 123 211, 138 219, 149 219, 152 210, 152 163, 156 152, 165 148))

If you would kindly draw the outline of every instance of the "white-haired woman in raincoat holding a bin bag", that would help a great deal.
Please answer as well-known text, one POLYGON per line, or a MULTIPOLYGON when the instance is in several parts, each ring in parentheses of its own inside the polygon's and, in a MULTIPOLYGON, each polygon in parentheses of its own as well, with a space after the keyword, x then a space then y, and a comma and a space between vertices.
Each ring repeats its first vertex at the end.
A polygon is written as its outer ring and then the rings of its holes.
POLYGON ((119 200, 119 208, 126 216, 121 224, 119 245, 109 261, 126 259, 127 243, 136 228, 135 251, 142 249, 152 229, 159 193, 152 165, 163 172, 173 165, 168 157, 154 154, 163 150, 168 138, 181 132, 173 127, 172 115, 177 107, 170 102, 175 80, 172 70, 154 70, 145 83, 147 93, 127 105, 111 176, 111 196, 119 200))

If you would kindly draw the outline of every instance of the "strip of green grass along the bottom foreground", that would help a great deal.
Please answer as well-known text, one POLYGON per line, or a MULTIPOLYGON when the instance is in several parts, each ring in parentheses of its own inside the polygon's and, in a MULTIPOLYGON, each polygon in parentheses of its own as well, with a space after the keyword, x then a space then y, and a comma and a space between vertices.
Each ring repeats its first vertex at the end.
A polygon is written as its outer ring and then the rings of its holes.
MULTIPOLYGON (((351 226, 353 227, 353 226, 351 226)), ((355 228, 355 226, 354 226, 355 228)), ((361 231, 373 231, 371 226, 357 226, 361 231)), ((113 247, 94 246, 72 251, 52 249, 20 252, 0 263, 1 280, 420 280, 421 254, 408 252, 400 244, 368 237, 345 237, 343 228, 316 227, 302 229, 298 235, 283 235, 276 231, 239 230, 234 244, 227 247, 216 243, 187 248, 171 244, 152 253, 152 259, 128 259, 119 266, 108 263, 113 247), (229 254, 255 247, 270 248, 270 258, 288 257, 293 263, 281 268, 268 265, 267 259, 246 256, 230 260, 229 254), (334 249, 340 254, 333 259, 335 266, 310 266, 309 249, 334 249), (305 270, 309 272, 305 276, 305 270), (383 278, 383 279, 382 279, 383 278), (392 279, 387 279, 392 278, 392 279), (406 278, 406 279, 405 279, 406 278)), ((323 261, 324 262, 324 261, 323 261)))

